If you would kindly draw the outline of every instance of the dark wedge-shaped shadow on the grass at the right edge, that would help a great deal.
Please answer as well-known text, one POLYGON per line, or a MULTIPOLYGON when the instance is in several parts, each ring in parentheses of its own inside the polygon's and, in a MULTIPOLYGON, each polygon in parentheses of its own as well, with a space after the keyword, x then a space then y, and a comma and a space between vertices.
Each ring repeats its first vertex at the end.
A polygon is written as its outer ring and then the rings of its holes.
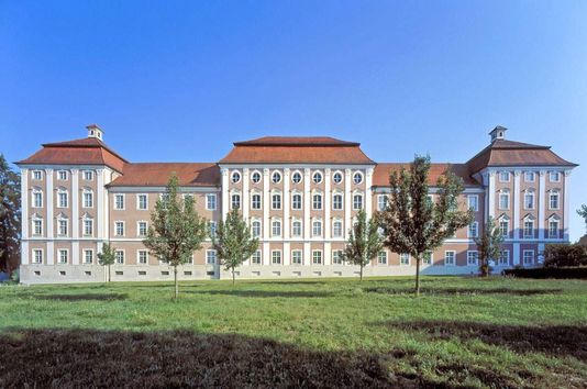
POLYGON ((586 325, 508 325, 459 321, 385 322, 388 329, 423 332, 431 340, 480 340, 518 353, 543 353, 550 356, 573 356, 587 362, 586 325))

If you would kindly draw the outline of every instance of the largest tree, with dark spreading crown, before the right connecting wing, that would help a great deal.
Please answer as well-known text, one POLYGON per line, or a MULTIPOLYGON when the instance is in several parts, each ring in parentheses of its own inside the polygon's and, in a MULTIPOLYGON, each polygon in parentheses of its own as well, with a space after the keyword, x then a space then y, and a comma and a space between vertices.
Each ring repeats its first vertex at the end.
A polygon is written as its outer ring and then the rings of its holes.
POLYGON ((470 210, 458 210, 463 180, 446 170, 436 181, 435 201, 429 197, 430 157, 416 156, 410 170, 401 168, 389 176, 391 193, 378 218, 385 246, 416 258, 416 294, 420 293, 420 263, 423 255, 440 247, 473 219, 470 210))

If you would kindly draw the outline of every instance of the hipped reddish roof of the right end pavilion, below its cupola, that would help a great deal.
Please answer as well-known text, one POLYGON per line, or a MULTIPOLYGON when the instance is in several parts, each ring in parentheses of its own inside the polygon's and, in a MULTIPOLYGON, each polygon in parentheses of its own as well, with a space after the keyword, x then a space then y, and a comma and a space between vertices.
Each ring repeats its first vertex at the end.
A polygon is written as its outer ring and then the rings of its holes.
POLYGON ((561 158, 550 146, 496 140, 467 162, 470 173, 488 166, 577 166, 561 158))

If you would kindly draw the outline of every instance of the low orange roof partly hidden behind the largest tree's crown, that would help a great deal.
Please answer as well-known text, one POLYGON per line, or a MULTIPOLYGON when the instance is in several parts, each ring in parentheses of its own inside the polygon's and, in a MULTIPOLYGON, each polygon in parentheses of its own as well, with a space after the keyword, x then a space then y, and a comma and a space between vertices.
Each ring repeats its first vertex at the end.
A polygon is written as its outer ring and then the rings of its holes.
MULTIPOLYGON (((407 170, 410 169, 409 163, 381 163, 375 166, 375 171, 373 173, 373 186, 374 187, 388 187, 389 186, 389 175, 392 171, 400 171, 401 168, 407 170)), ((431 164, 430 173, 428 176, 428 185, 436 185, 440 176, 445 171, 451 171, 457 177, 463 178, 465 186, 479 186, 473 177, 470 177, 468 167, 466 164, 431 164)))

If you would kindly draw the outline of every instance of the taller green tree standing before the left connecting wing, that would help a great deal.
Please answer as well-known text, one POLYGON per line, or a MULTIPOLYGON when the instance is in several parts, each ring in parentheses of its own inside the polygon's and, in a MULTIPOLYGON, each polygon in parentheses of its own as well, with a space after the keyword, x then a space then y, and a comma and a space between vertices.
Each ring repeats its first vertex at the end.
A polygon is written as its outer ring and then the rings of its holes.
POLYGON ((208 225, 206 219, 196 212, 193 197, 181 198, 177 193, 178 185, 179 180, 173 174, 165 193, 151 213, 151 225, 143 241, 153 255, 173 266, 175 299, 179 294, 177 267, 188 263, 193 252, 201 248, 208 225))

